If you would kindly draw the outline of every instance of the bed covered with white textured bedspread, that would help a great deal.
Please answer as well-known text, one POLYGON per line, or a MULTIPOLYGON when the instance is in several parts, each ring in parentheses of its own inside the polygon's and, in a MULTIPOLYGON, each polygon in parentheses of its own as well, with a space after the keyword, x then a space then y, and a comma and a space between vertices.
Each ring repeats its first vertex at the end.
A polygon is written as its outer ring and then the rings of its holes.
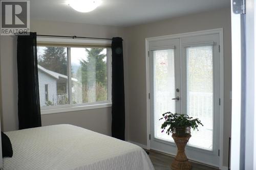
POLYGON ((54 125, 6 132, 13 157, 4 170, 154 169, 135 144, 73 125, 54 125))

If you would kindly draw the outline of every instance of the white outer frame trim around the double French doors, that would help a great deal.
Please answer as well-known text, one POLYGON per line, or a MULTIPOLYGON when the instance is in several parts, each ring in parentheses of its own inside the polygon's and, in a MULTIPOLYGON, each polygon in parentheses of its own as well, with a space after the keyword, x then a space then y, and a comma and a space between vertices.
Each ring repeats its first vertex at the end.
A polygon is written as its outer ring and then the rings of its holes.
MULTIPOLYGON (((221 106, 220 106, 220 163, 219 167, 223 167, 223 119, 224 119, 224 58, 223 58, 223 29, 213 29, 213 30, 204 30, 190 33, 182 33, 182 34, 174 34, 174 35, 166 35, 166 36, 158 36, 145 38, 145 59, 146 59, 146 131, 147 131, 147 143, 146 149, 150 150, 150 63, 149 63, 149 42, 157 41, 157 40, 166 40, 166 39, 174 39, 174 38, 182 38, 182 37, 191 37, 191 36, 199 36, 199 35, 208 35, 208 34, 219 34, 220 39, 220 98, 221 98, 221 106)), ((195 160, 197 161, 197 160, 195 160)), ((202 162, 204 163, 204 162, 202 162)))

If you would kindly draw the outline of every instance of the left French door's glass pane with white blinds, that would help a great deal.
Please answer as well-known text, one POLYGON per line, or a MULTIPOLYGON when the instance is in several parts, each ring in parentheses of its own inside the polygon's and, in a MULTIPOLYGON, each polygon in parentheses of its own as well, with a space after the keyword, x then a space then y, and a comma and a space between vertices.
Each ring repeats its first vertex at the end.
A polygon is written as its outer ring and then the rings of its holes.
POLYGON ((165 112, 176 112, 175 60, 174 50, 153 51, 154 57, 154 131, 155 138, 173 141, 171 136, 161 132, 164 120, 159 120, 165 112))

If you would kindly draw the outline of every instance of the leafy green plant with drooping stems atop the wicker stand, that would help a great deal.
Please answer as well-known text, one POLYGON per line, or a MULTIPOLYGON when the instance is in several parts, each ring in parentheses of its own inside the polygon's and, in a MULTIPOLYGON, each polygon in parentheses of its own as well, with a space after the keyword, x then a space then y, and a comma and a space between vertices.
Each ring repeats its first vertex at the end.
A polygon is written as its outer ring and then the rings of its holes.
POLYGON ((166 133, 169 135, 175 129, 184 129, 187 127, 193 128, 193 130, 198 130, 198 125, 202 125, 201 121, 198 118, 193 119, 193 117, 189 117, 187 114, 178 114, 166 112, 162 114, 163 117, 161 119, 165 119, 164 123, 161 126, 162 132, 164 132, 165 128, 169 126, 166 133))

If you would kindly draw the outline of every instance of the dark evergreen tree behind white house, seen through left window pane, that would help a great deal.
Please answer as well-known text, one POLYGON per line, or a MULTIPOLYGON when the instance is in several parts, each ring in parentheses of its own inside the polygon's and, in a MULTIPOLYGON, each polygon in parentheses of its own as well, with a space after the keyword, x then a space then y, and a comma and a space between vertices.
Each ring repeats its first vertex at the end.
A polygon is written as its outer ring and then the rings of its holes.
POLYGON ((67 72, 67 53, 65 47, 47 46, 44 54, 40 56, 38 64, 46 69, 58 72, 62 75, 68 75, 67 72))

